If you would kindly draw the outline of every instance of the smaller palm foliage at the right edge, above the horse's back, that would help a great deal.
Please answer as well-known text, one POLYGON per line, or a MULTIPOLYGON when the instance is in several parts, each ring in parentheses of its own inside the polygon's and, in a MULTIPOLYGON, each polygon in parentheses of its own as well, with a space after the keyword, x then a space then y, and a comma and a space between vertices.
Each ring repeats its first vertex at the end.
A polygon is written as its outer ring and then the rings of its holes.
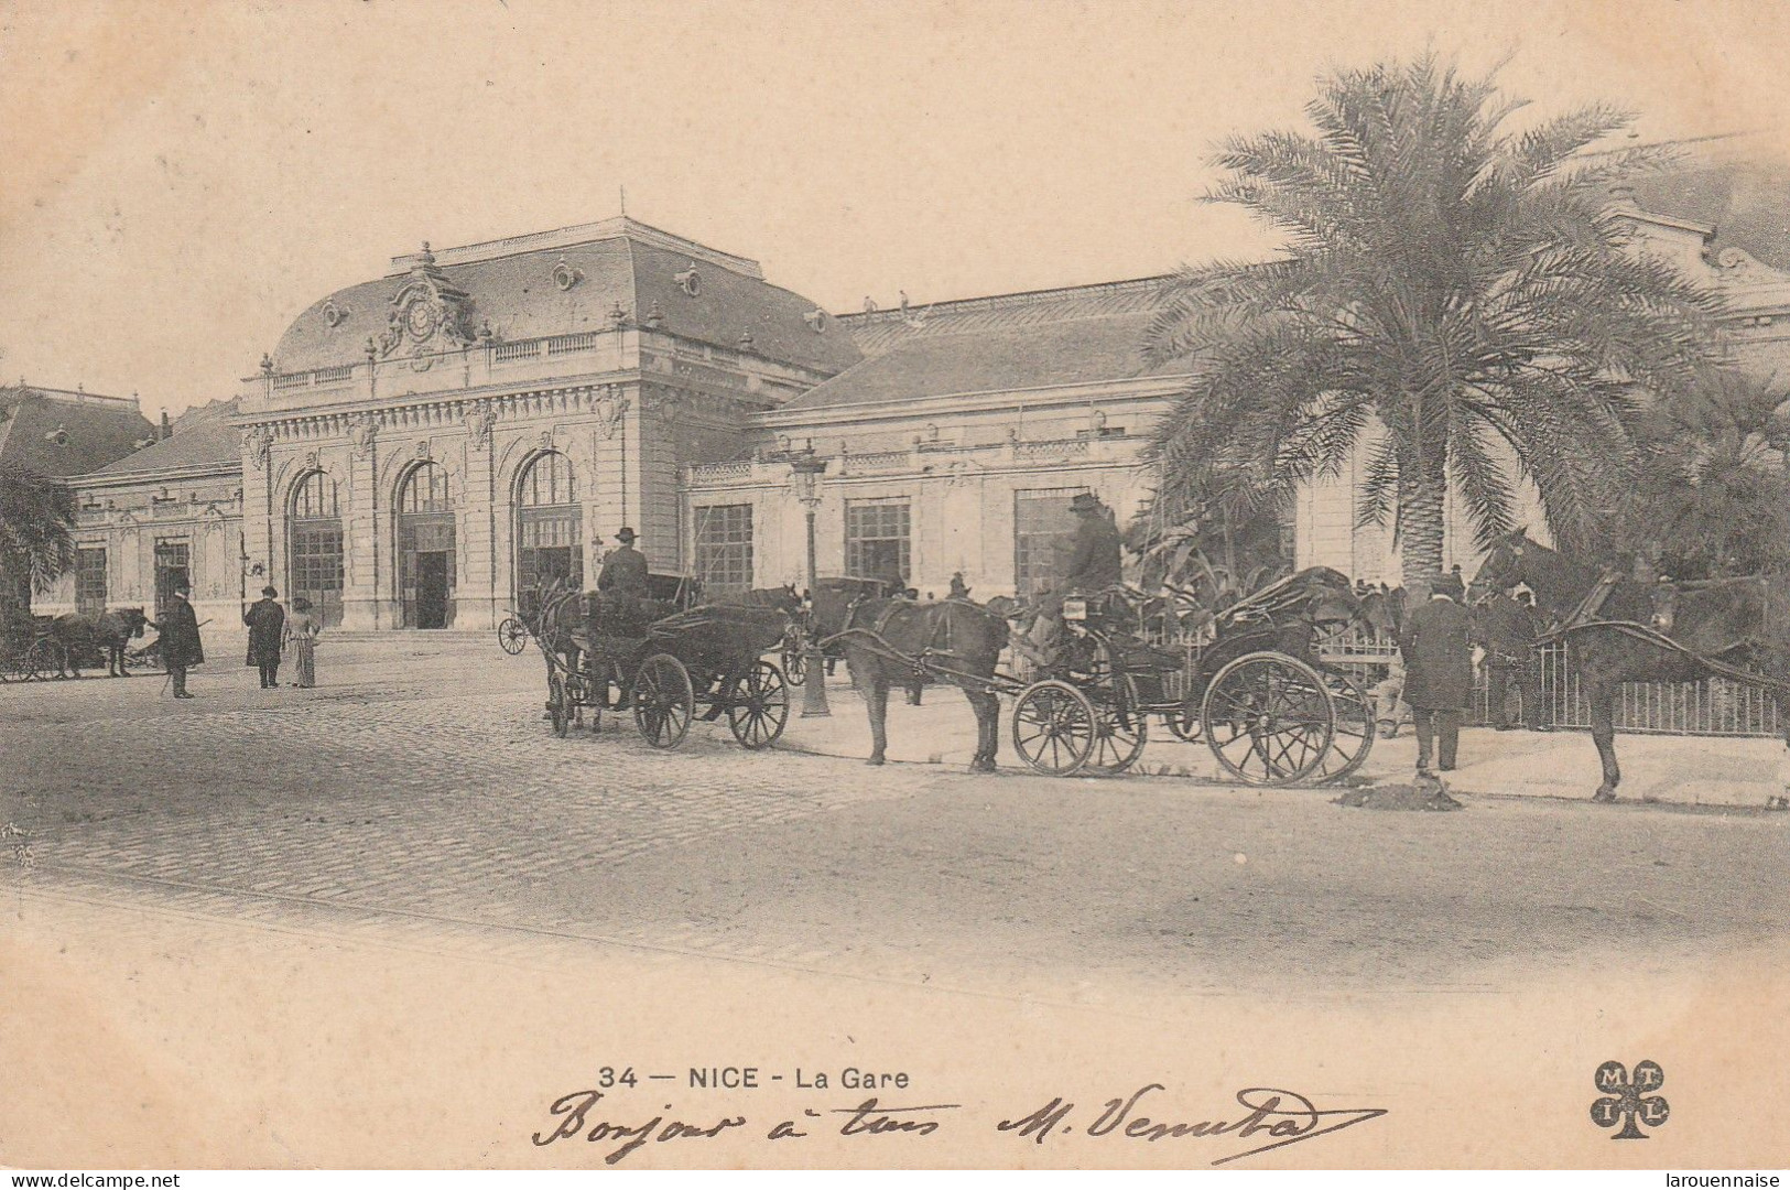
POLYGON ((1790 573, 1790 388, 1709 369, 1640 424, 1615 544, 1674 578, 1790 573))

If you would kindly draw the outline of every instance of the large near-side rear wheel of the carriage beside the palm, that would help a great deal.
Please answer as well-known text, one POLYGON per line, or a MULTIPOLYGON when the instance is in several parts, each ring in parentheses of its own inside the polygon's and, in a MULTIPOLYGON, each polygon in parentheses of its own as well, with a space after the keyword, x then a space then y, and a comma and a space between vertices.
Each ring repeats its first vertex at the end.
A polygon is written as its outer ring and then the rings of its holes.
POLYGON ((1335 705, 1323 676, 1285 653, 1244 653, 1206 685, 1206 746, 1237 780, 1291 786, 1330 750, 1335 705))

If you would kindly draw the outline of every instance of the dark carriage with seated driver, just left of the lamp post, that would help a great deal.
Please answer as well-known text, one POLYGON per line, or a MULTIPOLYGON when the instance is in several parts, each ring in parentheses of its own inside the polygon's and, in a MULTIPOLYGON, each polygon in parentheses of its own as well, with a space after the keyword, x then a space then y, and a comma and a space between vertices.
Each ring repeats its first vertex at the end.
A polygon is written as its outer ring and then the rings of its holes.
POLYGON ((768 748, 789 721, 789 687, 763 660, 784 644, 780 608, 700 603, 696 583, 652 574, 648 598, 564 591, 542 601, 535 642, 548 667, 548 716, 566 735, 584 712, 632 712, 641 737, 677 748, 702 710, 727 718, 745 748, 768 748))

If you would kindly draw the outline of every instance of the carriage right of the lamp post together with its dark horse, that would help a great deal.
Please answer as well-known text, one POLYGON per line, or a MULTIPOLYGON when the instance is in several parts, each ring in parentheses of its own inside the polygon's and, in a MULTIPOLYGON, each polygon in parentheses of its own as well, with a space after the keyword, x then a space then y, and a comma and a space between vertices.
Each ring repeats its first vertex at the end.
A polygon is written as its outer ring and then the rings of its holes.
POLYGON ((904 680, 963 687, 983 727, 983 769, 993 768, 995 694, 1015 698, 1020 759, 1053 777, 1122 773, 1144 753, 1151 719, 1183 741, 1203 735, 1219 766, 1253 786, 1339 780, 1373 748, 1368 693, 1319 657, 1321 635, 1359 616, 1337 571, 1301 571, 1217 610, 1190 657, 1149 642, 1144 601, 1126 589, 1070 594, 1065 644, 1033 680, 993 667, 1006 633, 977 616, 993 612, 958 599, 859 601, 822 641, 872 678, 872 762, 886 685, 904 680))

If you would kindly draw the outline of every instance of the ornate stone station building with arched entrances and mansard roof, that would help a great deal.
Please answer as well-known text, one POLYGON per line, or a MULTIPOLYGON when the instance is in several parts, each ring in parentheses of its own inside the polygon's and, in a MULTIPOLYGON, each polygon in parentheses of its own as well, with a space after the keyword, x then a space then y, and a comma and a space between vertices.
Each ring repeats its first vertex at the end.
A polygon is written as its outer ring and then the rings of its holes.
MULTIPOLYGON (((1706 215, 1615 200, 1790 376, 1790 242, 1720 234, 1738 188, 1690 193, 1706 215)), ((632 218, 424 245, 299 313, 231 399, 166 435, 138 413, 70 480, 81 564, 36 605, 150 607, 184 578, 200 619, 272 583, 349 630, 489 628, 589 582, 625 524, 711 591, 802 583, 811 521, 820 574, 1027 592, 1074 494, 1121 523, 1147 503, 1140 449, 1185 379, 1140 353, 1160 286, 832 313, 632 218)), ((1300 501, 1296 562, 1396 583, 1348 480, 1300 501)), ((1464 517, 1450 551, 1471 562, 1464 517)))

